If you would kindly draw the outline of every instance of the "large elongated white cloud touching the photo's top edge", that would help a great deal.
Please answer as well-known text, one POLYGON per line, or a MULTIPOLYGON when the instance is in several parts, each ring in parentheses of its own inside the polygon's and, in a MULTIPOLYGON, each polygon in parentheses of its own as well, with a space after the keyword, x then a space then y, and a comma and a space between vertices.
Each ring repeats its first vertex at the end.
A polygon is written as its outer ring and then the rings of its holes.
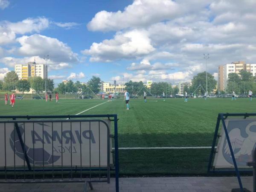
POLYGON ((148 26, 180 14, 182 8, 172 0, 134 0, 123 12, 98 12, 87 24, 91 31, 111 31, 148 26))

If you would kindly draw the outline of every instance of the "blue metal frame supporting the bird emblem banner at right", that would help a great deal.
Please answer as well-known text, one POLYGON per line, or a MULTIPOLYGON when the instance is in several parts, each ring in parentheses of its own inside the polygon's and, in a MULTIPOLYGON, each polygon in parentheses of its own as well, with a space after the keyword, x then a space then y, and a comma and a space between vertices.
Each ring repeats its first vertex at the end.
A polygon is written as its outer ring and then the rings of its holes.
POLYGON ((246 117, 249 117, 249 116, 256 116, 256 113, 219 113, 218 114, 217 123, 216 123, 216 127, 215 127, 215 133, 214 133, 214 137, 213 137, 213 141, 212 141, 211 153, 210 153, 210 157, 209 157, 208 173, 224 173, 224 174, 236 173, 236 176, 237 176, 237 179, 238 179, 238 182, 239 182, 240 191, 243 192, 243 185, 242 185, 242 182, 241 182, 240 173, 252 173, 252 171, 249 171, 249 170, 239 171, 239 169, 238 169, 238 166, 236 164, 234 151, 232 149, 232 145, 230 143, 230 138, 229 138, 229 135, 228 135, 228 132, 227 132, 227 126, 225 124, 225 119, 227 119, 227 117, 229 117, 229 116, 243 116, 244 119, 245 119, 246 117), (214 156, 214 153, 215 153, 215 145, 216 145, 216 141, 217 141, 217 138, 218 138, 218 130, 219 130, 220 122, 222 122, 223 129, 224 129, 224 132, 225 132, 225 135, 226 135, 226 138, 227 138, 227 143, 228 143, 228 146, 229 146, 229 149, 230 149, 230 153, 231 153, 231 157, 232 157, 233 164, 234 164, 234 167, 235 167, 235 171, 233 171, 233 170, 219 171, 219 170, 214 170, 214 167, 212 167, 212 160, 213 160, 213 156, 214 156))

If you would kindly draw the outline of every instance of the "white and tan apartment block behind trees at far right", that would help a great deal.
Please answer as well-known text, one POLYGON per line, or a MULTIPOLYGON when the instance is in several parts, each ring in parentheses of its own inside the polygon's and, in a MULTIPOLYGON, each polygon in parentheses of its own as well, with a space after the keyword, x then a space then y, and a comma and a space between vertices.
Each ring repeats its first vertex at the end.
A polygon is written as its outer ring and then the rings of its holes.
POLYGON ((253 76, 256 76, 256 64, 245 64, 244 61, 232 62, 218 67, 218 89, 226 90, 228 74, 237 73, 241 70, 249 71, 253 76))

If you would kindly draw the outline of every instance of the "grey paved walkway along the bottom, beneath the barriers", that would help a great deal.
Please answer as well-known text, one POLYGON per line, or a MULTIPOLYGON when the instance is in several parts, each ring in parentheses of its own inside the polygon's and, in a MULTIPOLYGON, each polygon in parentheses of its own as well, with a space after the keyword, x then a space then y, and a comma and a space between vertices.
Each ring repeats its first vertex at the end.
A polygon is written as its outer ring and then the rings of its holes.
MULTIPOLYGON (((253 178, 242 177, 252 191, 253 178)), ((0 192, 82 192, 83 183, 0 184, 0 192)), ((94 183, 90 192, 114 192, 115 182, 94 183)), ((120 192, 231 192, 239 188, 236 177, 133 177, 120 178, 120 192)))

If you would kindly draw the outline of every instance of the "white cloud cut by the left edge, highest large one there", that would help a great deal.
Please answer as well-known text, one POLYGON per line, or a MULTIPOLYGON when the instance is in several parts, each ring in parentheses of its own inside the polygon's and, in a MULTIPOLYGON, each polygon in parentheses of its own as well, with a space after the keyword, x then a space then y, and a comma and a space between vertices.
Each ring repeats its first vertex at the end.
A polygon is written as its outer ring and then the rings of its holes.
POLYGON ((0 22, 0 44, 14 42, 16 35, 25 33, 40 32, 49 26, 49 20, 45 17, 27 18, 12 23, 9 21, 0 22))

